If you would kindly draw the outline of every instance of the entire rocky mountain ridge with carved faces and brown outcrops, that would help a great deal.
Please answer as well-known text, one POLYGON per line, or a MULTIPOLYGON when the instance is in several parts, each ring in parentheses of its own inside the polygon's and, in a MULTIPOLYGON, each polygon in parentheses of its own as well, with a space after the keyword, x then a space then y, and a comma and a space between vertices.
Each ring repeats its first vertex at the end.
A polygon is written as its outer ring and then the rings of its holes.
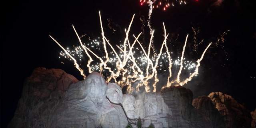
POLYGON ((136 96, 122 94, 120 86, 106 83, 98 72, 78 81, 60 69, 36 68, 24 82, 8 128, 126 128, 128 124, 137 128, 138 121, 142 128, 255 125, 248 111, 231 96, 214 92, 192 97, 193 93, 182 86, 136 96))

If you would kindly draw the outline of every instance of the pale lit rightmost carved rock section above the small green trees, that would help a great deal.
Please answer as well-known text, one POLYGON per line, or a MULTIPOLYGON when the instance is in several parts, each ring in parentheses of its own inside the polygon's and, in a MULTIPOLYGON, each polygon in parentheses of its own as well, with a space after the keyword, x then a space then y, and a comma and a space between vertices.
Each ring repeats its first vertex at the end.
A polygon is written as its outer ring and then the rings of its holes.
POLYGON ((155 128, 168 128, 168 116, 172 111, 164 102, 162 92, 142 93, 136 97, 134 118, 142 119, 142 126, 148 127, 153 124, 155 128))

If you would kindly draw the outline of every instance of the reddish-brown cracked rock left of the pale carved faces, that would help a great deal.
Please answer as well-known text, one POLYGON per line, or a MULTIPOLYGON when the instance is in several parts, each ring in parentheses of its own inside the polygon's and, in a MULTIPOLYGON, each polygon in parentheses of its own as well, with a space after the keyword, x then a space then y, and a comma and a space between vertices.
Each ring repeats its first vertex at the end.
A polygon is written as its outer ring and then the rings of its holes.
POLYGON ((9 128, 44 127, 69 86, 78 80, 60 69, 36 68, 24 80, 21 98, 9 128))

